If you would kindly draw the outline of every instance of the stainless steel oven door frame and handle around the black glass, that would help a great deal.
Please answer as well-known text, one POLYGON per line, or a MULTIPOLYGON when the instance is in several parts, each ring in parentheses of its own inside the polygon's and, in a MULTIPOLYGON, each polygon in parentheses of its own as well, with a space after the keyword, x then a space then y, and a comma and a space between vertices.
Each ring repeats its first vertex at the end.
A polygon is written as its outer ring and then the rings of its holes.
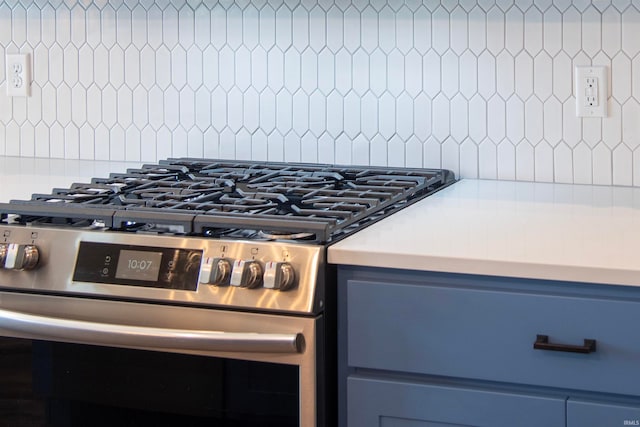
MULTIPOLYGON (((0 336, 26 338, 40 343, 37 351, 48 354, 45 365, 51 366, 46 369, 36 366, 36 371, 40 371, 40 378, 34 380, 36 383, 44 383, 45 389, 55 392, 61 387, 54 384, 61 379, 56 374, 60 369, 52 367, 53 364, 60 366, 64 362, 64 366, 73 358, 88 359, 92 354, 100 355, 95 359, 96 362, 89 362, 97 365, 102 365, 106 359, 119 360, 116 364, 123 360, 128 364, 133 359, 139 359, 139 364, 145 365, 148 360, 151 365, 157 364, 158 375, 159 371, 173 370, 176 367, 173 365, 195 366, 203 360, 226 361, 227 366, 246 361, 249 365, 245 365, 248 368, 244 370, 252 373, 241 378, 242 375, 236 376, 233 369, 227 369, 222 374, 230 384, 224 389, 226 391, 211 391, 212 396, 218 396, 224 401, 218 406, 227 410, 229 396, 225 393, 237 387, 238 382, 247 382, 247 376, 259 379, 263 366, 288 367, 287 369, 295 369, 298 374, 297 409, 301 426, 324 424, 324 363, 322 351, 318 351, 322 346, 317 345, 323 338, 322 325, 322 316, 298 317, 0 292, 0 336), (110 353, 113 351, 132 353, 110 353), (52 354, 57 355, 58 362, 49 357, 52 354), (171 354, 174 356, 170 356, 171 354)), ((101 366, 95 366, 95 369, 101 370, 101 366)), ((141 368, 145 369, 148 370, 149 366, 141 368)), ((217 372, 216 369, 213 372, 217 372)), ((62 369, 65 372, 68 370, 62 369)), ((108 369, 105 370, 108 372, 108 369)), ((184 377, 184 374, 176 375, 184 377)), ((202 374, 203 377, 215 375, 212 372, 202 374)), ((278 382, 277 379, 274 381, 278 382)), ((290 378, 282 379, 282 382, 287 381, 290 378)), ((190 385, 186 384, 185 387, 190 388, 190 385)), ((68 386, 62 388, 69 389, 68 386)), ((86 390, 87 384, 80 388, 86 390)), ((104 389, 100 385, 95 388, 104 389)), ((118 393, 121 392, 116 390, 114 394, 118 393)), ((138 398, 153 400, 152 396, 139 395, 138 398)), ((245 406, 243 409, 250 412, 251 403, 245 403, 246 405, 241 403, 239 406, 245 406)), ((171 408, 168 410, 171 411, 171 408)))

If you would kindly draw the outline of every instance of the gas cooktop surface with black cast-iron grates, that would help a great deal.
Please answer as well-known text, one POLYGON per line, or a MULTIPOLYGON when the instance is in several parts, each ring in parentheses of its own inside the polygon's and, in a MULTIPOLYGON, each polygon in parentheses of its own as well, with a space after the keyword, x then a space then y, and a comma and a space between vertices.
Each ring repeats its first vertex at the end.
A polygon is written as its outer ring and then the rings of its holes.
POLYGON ((327 243, 455 181, 444 169, 175 158, 0 204, 39 226, 327 243))

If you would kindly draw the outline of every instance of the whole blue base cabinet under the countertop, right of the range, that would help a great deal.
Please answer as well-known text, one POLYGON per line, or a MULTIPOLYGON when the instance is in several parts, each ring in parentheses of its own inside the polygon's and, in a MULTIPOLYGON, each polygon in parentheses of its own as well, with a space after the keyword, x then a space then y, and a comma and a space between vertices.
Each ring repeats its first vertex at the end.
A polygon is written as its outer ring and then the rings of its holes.
POLYGON ((339 295, 342 426, 640 420, 640 287, 340 266, 339 295))

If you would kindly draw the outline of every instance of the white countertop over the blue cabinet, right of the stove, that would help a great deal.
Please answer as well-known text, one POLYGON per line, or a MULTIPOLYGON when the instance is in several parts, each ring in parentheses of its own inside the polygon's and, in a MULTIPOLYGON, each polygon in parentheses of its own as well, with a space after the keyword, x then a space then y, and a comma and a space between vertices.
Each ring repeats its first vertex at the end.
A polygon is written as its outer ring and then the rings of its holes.
POLYGON ((332 245, 328 259, 640 286, 640 189, 461 180, 332 245))

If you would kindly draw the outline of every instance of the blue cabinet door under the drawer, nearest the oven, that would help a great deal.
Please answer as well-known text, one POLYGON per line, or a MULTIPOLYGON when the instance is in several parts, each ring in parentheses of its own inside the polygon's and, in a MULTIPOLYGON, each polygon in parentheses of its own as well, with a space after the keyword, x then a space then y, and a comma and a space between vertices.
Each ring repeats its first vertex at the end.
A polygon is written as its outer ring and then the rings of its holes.
POLYGON ((350 377, 349 427, 564 427, 565 398, 350 377))

